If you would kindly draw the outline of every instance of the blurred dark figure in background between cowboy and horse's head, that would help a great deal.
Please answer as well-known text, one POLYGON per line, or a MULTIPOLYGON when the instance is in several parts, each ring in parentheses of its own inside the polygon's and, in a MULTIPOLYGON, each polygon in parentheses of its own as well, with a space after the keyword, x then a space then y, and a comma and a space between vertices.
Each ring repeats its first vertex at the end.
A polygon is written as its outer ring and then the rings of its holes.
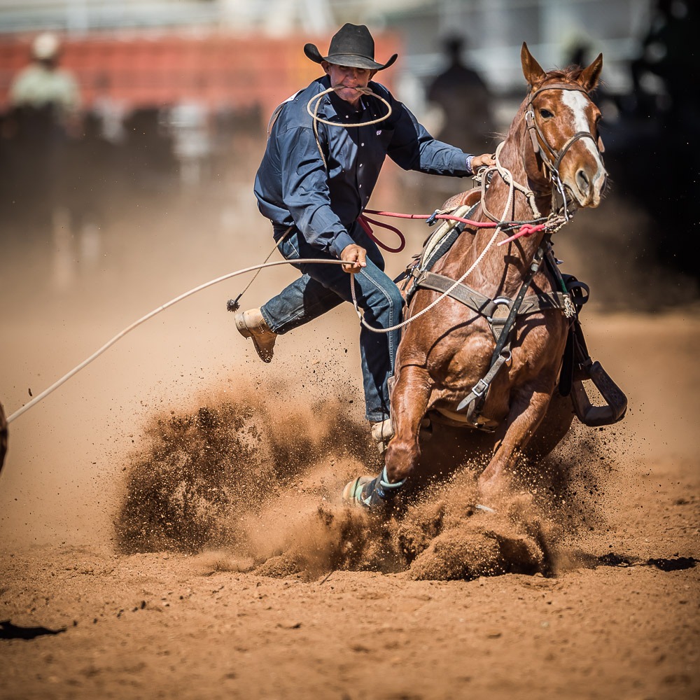
POLYGON ((428 85, 426 97, 442 111, 437 139, 467 153, 492 151, 496 133, 491 94, 479 73, 463 61, 465 46, 462 36, 444 40, 447 68, 428 85))

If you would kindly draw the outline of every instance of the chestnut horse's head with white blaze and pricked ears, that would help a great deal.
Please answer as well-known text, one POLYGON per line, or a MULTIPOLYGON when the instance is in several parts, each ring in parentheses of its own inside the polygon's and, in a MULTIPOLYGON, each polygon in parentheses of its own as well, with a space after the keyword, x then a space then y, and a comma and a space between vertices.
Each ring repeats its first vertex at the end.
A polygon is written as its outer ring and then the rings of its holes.
POLYGON ((601 112, 589 92, 598 85, 603 55, 587 68, 547 73, 523 43, 520 59, 530 86, 525 121, 533 150, 526 160, 538 156, 545 172, 558 177, 580 207, 597 207, 607 173, 598 136, 601 112))

